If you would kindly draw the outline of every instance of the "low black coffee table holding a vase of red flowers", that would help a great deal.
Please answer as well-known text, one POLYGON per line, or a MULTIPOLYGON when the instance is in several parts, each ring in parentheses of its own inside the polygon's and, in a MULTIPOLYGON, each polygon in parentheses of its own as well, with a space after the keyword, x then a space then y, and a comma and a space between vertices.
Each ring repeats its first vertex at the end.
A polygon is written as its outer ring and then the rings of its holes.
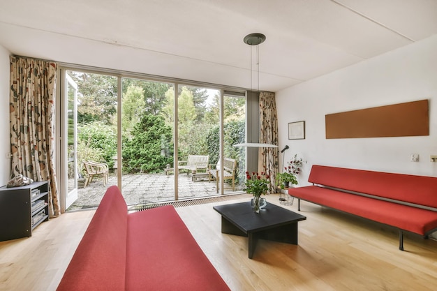
POLYGON ((306 216, 267 203, 255 214, 251 202, 213 207, 221 214, 221 232, 249 238, 249 258, 253 257, 258 239, 297 244, 297 222, 306 216))

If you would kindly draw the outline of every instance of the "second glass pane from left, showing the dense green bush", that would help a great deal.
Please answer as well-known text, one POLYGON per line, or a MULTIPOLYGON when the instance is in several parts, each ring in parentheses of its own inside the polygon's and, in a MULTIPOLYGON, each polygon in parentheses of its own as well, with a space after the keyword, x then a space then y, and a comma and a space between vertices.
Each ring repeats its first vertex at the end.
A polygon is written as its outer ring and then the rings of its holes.
POLYGON ((175 86, 121 80, 121 189, 128 204, 175 199, 175 86))

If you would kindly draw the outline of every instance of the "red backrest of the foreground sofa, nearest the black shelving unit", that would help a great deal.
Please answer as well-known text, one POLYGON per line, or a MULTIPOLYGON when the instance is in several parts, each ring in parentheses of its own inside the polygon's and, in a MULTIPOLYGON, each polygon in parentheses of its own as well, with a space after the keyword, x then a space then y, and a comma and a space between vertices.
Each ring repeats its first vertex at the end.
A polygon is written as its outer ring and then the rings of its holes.
POLYGON ((57 290, 124 290, 128 211, 117 186, 106 191, 57 290))

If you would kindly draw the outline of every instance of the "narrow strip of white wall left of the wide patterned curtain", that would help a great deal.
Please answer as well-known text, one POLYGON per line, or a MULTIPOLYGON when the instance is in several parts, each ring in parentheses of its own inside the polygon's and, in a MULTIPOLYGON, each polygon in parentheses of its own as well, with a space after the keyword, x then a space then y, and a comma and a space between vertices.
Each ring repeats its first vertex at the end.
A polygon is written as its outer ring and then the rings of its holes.
POLYGON ((10 179, 10 152, 9 134, 9 52, 0 45, 0 186, 6 185, 10 179))

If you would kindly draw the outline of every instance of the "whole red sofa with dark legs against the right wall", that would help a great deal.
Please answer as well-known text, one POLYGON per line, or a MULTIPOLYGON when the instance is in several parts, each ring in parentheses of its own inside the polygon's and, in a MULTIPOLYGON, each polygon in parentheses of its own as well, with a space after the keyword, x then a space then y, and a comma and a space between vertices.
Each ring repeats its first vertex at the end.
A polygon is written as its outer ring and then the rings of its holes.
POLYGON ((437 178, 313 165, 313 186, 289 188, 288 194, 355 214, 428 238, 437 230, 437 178))

